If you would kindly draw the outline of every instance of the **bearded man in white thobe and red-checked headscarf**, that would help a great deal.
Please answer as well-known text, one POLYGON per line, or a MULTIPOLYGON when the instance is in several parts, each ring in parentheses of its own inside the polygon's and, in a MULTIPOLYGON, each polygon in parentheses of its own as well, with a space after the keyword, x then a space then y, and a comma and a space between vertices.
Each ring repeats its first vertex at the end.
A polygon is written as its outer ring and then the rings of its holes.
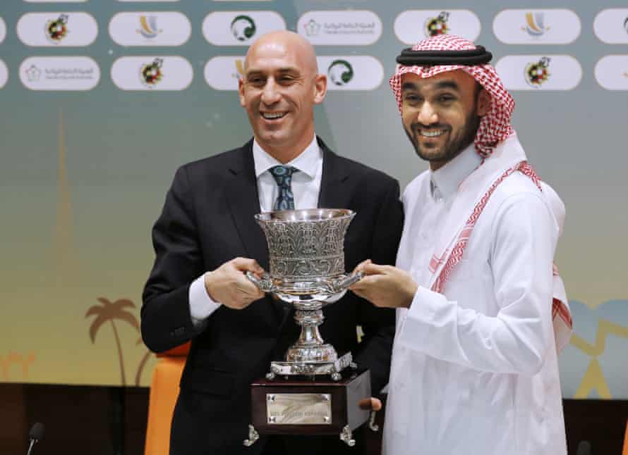
POLYGON ((430 169, 404 192, 397 267, 365 261, 351 287, 398 308, 386 455, 567 454, 564 206, 527 163, 490 58, 441 35, 402 52, 390 80, 430 169))

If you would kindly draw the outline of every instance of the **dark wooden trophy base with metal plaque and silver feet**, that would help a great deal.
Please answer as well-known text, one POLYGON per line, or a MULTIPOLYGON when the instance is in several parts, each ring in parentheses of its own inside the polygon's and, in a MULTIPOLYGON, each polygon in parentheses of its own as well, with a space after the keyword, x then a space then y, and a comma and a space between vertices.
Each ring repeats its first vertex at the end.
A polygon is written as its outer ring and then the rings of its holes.
POLYGON ((347 368, 342 379, 260 378, 251 384, 250 446, 258 435, 339 435, 353 446, 351 432, 369 418, 358 401, 371 396, 370 372, 347 368))

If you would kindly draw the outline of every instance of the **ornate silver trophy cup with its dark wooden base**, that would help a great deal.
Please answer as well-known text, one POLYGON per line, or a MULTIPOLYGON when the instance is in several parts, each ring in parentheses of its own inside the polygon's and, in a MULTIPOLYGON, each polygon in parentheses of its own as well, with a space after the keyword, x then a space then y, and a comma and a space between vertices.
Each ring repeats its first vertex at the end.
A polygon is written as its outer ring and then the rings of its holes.
POLYGON ((355 213, 316 208, 275 211, 255 216, 264 231, 270 273, 248 278, 294 306, 301 335, 283 361, 272 361, 265 378, 251 385, 249 437, 259 434, 330 435, 353 446, 352 431, 368 420, 358 401, 370 397, 370 375, 353 362, 351 352, 339 356, 318 330, 322 308, 346 294, 361 273, 344 270, 344 236, 355 213))

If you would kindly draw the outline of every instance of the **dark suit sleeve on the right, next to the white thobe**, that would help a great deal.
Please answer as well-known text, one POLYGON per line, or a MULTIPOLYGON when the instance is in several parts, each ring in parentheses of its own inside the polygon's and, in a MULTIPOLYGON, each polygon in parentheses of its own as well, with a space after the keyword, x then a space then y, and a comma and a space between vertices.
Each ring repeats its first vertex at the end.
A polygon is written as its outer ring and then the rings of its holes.
MULTIPOLYGON (((399 200, 399 183, 391 180, 384 196, 380 198, 378 216, 375 218, 370 258, 378 264, 394 265, 397 248, 404 226, 404 213, 399 200)), ((392 308, 377 308, 369 301, 358 299, 358 320, 364 336, 356 356, 359 366, 370 368, 373 394, 388 383, 390 356, 394 339, 395 313, 392 308)))

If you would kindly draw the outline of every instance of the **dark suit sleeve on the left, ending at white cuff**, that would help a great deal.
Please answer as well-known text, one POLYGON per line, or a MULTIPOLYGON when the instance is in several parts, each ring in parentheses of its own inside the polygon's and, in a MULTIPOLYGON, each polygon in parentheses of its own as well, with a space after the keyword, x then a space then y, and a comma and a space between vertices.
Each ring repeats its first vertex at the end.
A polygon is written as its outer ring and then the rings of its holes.
POLYGON ((191 204, 190 182, 182 167, 152 228, 155 263, 142 295, 141 329, 146 346, 154 352, 167 351, 198 334, 188 292, 192 280, 205 270, 191 204))

